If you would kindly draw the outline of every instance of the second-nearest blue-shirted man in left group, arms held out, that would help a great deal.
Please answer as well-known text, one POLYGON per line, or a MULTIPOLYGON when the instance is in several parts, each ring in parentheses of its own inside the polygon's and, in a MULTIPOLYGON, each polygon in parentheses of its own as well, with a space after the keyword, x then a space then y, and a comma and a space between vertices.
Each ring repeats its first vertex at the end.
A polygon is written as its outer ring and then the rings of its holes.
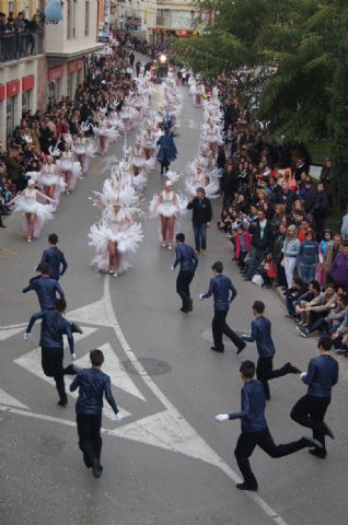
POLYGON ((24 334, 24 339, 31 338, 31 331, 36 320, 42 319, 42 334, 39 346, 42 347, 42 366, 45 375, 54 377, 56 388, 59 395, 58 405, 65 407, 68 404, 66 394, 65 375, 74 375, 77 373, 72 362, 76 360, 73 350, 73 337, 70 323, 63 317, 67 303, 63 299, 57 299, 55 310, 37 312, 32 315, 24 334), (62 366, 63 361, 63 340, 66 335, 69 341, 71 364, 67 368, 62 366))

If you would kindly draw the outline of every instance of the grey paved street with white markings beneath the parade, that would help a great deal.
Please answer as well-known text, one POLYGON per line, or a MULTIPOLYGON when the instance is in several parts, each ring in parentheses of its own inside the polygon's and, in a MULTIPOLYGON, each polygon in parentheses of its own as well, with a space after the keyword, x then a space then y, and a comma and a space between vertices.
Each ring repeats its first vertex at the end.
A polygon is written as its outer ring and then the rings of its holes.
MULTIPOLYGON (((175 139, 181 172, 198 143, 201 110, 184 91, 179 136, 175 139)), ((158 100, 162 96, 159 88, 158 100)), ((135 131, 128 143, 134 144, 135 131)), ((255 359, 248 345, 235 355, 225 345, 223 354, 210 351, 212 301, 198 301, 207 290, 210 266, 221 259, 239 291, 229 314, 237 331, 250 330, 253 301, 266 303, 277 343, 275 365, 287 361, 301 369, 316 353, 315 338, 302 339, 285 318, 276 292, 243 282, 231 262, 231 247, 217 231, 220 201, 208 232, 208 255, 199 259, 193 281, 194 312, 178 311, 176 272, 170 267, 173 252, 161 248, 158 222, 144 219, 144 241, 129 272, 116 279, 94 272, 89 264, 90 225, 98 211, 89 200, 109 174, 111 161, 120 159, 123 141, 106 158, 93 159, 85 180, 70 196, 62 196, 54 221, 39 240, 27 244, 21 220, 10 217, 0 237, 1 369, 0 369, 0 523, 3 525, 326 525, 347 523, 347 377, 348 362, 338 358, 340 381, 327 415, 336 440, 327 443, 326 460, 306 451, 271 459, 260 450, 252 458, 259 492, 235 489, 239 470, 233 450, 237 421, 219 424, 216 413, 240 408, 240 363, 255 359), (103 349, 104 370, 112 376, 124 419, 117 423, 105 407, 103 428, 104 472, 93 478, 78 448, 74 398, 57 406, 54 382, 43 375, 38 350, 39 326, 30 341, 23 331, 38 310, 35 294, 21 290, 35 272, 47 234, 59 235, 69 264, 61 285, 68 317, 84 334, 77 337, 79 365, 86 365, 92 348, 103 349)), ((146 200, 163 182, 159 166, 150 175, 146 200)), ((177 186, 183 185, 181 180, 177 186)), ((193 243, 190 214, 181 230, 193 243)), ((68 358, 68 352, 67 352, 68 358)), ((267 418, 276 442, 306 433, 289 418, 305 392, 299 376, 270 384, 267 418)))

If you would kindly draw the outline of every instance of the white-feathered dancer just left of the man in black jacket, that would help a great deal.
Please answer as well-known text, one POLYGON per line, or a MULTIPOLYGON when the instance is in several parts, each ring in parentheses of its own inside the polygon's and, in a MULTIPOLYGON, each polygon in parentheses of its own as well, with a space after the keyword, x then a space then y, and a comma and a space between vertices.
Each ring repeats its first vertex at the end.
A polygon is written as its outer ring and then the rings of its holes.
MULTIPOLYGON (((170 173, 170 172, 169 172, 170 173)), ((174 172, 172 172, 174 173, 174 172)), ((187 199, 173 191, 173 183, 167 180, 164 190, 150 202, 150 214, 161 221, 161 244, 173 249, 176 218, 186 213, 187 199)))

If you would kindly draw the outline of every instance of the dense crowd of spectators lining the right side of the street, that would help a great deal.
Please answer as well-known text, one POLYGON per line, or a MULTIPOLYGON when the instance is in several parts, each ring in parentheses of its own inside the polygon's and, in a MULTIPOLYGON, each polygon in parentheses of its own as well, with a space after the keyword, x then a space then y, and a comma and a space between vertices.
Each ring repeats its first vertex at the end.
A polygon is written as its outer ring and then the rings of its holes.
POLYGON ((281 289, 299 335, 326 331, 348 357, 348 208, 337 230, 326 228, 332 161, 313 179, 306 148, 269 141, 239 104, 236 82, 218 80, 225 138, 217 152, 218 228, 230 238, 245 281, 281 289))

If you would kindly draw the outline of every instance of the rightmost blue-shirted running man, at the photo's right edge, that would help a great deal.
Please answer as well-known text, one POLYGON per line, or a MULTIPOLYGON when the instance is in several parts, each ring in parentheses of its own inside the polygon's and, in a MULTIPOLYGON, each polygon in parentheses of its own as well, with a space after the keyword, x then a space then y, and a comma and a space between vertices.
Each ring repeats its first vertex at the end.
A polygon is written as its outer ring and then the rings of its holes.
POLYGON ((309 369, 301 374, 308 385, 308 393, 301 397, 291 410, 290 417, 302 427, 312 429, 313 438, 322 446, 310 451, 313 456, 324 459, 327 455, 325 435, 334 439, 332 430, 324 421, 326 410, 332 401, 332 388, 338 382, 338 363, 330 355, 333 341, 329 336, 322 336, 317 348, 320 355, 311 359, 309 369))

